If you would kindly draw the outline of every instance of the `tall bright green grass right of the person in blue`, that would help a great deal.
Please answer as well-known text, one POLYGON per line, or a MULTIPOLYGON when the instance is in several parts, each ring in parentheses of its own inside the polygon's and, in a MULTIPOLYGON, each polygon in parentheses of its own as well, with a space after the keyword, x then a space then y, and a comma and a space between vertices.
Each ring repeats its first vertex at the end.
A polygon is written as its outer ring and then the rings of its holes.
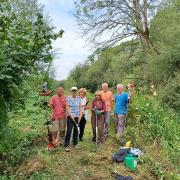
POLYGON ((174 165, 178 165, 180 147, 179 114, 163 107, 155 97, 137 94, 129 116, 138 126, 144 143, 160 142, 174 165))

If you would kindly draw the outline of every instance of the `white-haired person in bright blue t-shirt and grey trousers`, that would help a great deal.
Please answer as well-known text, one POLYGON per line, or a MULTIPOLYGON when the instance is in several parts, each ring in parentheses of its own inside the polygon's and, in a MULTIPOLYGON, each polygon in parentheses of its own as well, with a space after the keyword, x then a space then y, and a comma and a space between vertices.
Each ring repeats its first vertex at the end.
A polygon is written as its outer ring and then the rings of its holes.
POLYGON ((128 107, 128 94, 123 92, 123 85, 117 85, 117 94, 114 96, 115 100, 115 123, 116 123, 116 133, 117 135, 122 134, 125 123, 126 114, 128 107))

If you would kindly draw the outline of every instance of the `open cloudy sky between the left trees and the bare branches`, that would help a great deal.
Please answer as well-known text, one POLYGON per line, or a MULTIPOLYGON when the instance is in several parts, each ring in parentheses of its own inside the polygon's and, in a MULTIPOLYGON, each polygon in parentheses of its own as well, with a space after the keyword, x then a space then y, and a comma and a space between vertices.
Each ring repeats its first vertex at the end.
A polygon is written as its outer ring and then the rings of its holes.
POLYGON ((54 59, 55 78, 66 79, 70 71, 79 63, 83 63, 90 54, 89 47, 80 38, 78 27, 73 17, 74 0, 39 0, 44 5, 45 14, 52 19, 56 31, 63 29, 63 38, 53 42, 53 48, 59 55, 54 59))

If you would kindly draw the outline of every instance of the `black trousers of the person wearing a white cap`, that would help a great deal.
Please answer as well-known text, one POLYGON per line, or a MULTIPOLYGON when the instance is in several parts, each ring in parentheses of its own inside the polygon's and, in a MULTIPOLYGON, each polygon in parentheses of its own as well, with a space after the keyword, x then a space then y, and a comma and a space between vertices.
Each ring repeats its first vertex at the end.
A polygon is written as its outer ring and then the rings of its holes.
MULTIPOLYGON (((75 117, 75 121, 78 123, 78 117, 75 117)), ((78 130, 76 125, 73 123, 72 119, 68 116, 67 117, 67 129, 66 129, 66 137, 64 141, 64 146, 69 146, 70 139, 71 139, 71 132, 73 129, 73 145, 78 144, 78 130), (73 129, 74 127, 74 129, 73 129)))

